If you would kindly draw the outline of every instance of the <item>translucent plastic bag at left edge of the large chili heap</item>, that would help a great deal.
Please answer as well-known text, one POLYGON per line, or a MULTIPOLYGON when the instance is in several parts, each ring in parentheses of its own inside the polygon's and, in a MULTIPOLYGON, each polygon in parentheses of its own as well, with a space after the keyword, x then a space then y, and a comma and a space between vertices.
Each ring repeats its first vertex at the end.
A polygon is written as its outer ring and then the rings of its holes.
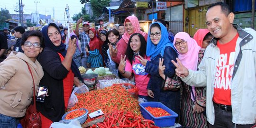
POLYGON ((75 93, 85 93, 88 91, 89 91, 89 88, 85 84, 83 84, 81 87, 75 87, 69 97, 67 108, 68 109, 72 108, 78 102, 78 99, 77 99, 75 93))

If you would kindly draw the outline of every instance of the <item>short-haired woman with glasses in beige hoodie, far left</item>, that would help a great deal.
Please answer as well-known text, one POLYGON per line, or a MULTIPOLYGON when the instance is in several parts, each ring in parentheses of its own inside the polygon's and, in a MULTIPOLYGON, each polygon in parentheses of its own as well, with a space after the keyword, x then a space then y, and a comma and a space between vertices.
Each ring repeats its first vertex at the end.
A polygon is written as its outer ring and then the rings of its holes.
POLYGON ((37 55, 45 47, 44 38, 37 30, 27 31, 21 38, 22 52, 12 52, 0 63, 0 128, 17 128, 16 118, 25 116, 35 90, 44 75, 37 55))

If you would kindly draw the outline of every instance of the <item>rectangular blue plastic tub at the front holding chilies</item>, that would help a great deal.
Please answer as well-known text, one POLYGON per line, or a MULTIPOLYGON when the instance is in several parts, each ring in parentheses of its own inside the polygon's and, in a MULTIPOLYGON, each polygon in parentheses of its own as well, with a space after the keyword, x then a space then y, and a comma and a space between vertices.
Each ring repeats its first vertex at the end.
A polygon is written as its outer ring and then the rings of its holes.
POLYGON ((139 103, 140 106, 140 112, 142 116, 145 119, 151 119, 155 122, 155 125, 158 127, 169 127, 174 126, 175 124, 175 118, 178 117, 178 114, 175 113, 173 110, 166 107, 161 102, 143 102, 139 103), (168 113, 171 114, 171 116, 164 116, 164 117, 154 117, 150 112, 148 112, 145 108, 146 107, 152 107, 152 108, 161 108, 163 110, 166 110, 168 113))

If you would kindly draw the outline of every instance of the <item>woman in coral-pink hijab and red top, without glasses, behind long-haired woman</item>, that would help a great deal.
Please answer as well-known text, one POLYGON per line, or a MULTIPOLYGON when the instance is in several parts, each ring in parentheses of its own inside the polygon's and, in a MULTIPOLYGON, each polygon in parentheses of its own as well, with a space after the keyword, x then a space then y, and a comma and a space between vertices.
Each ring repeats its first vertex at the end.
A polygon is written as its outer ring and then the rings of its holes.
POLYGON ((145 40, 147 40, 147 34, 140 30, 138 18, 135 16, 129 16, 125 19, 125 33, 119 40, 116 48, 110 46, 110 56, 111 59, 117 64, 120 63, 121 55, 125 55, 129 38, 134 33, 140 33, 145 40))

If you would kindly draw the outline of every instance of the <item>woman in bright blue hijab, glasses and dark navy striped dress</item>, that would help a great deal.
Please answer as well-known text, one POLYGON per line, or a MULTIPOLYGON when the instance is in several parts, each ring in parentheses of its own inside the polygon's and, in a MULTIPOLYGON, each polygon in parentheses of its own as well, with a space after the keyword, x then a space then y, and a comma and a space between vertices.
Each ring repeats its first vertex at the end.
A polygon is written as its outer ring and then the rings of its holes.
POLYGON ((161 89, 164 79, 160 77, 158 72, 159 60, 164 59, 164 74, 171 77, 175 73, 175 66, 171 60, 177 57, 173 43, 168 39, 167 29, 162 23, 155 22, 151 24, 148 31, 146 55, 150 56, 150 61, 138 56, 141 64, 146 66, 145 71, 151 75, 147 85, 147 94, 150 97, 149 101, 162 102, 165 106, 179 114, 180 91, 163 91, 161 89))

